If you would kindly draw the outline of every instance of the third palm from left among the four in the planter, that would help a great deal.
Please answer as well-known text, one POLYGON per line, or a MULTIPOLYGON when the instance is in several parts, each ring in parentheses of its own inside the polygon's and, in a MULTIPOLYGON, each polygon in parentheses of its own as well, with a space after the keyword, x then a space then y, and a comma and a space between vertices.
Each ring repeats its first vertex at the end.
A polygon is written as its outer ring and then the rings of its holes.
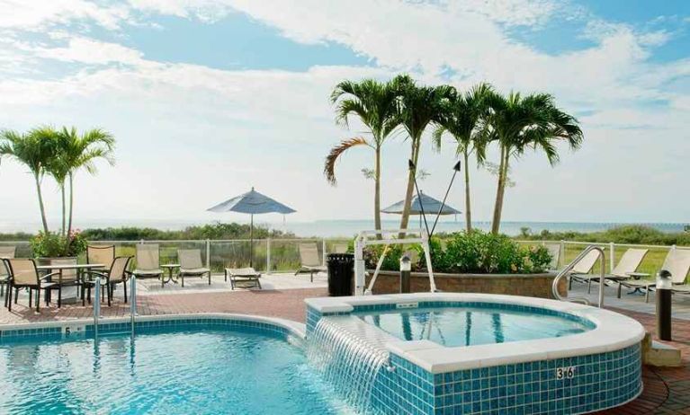
POLYGON ((450 133, 455 139, 456 154, 462 155, 465 167, 465 225, 472 230, 472 208, 470 200, 470 155, 475 152, 478 162, 484 159, 484 141, 481 136, 482 122, 488 113, 487 95, 489 84, 478 84, 469 92, 454 95, 445 106, 444 116, 434 131, 436 148, 441 147, 441 137, 450 133))

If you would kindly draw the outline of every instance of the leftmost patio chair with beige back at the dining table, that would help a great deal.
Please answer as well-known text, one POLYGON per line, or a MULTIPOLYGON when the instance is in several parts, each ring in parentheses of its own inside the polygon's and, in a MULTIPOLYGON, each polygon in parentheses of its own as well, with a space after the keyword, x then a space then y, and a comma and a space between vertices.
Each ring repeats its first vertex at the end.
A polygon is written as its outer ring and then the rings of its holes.
POLYGON ((36 269, 36 262, 31 258, 9 258, 3 261, 4 266, 10 272, 7 297, 5 298, 7 308, 12 311, 12 288, 14 288, 14 304, 17 304, 19 288, 27 288, 29 290, 29 308, 31 308, 33 290, 36 290, 36 311, 39 311, 40 290, 50 289, 55 286, 55 283, 46 282, 45 279, 54 277, 59 272, 53 272, 40 277, 39 270, 36 269))

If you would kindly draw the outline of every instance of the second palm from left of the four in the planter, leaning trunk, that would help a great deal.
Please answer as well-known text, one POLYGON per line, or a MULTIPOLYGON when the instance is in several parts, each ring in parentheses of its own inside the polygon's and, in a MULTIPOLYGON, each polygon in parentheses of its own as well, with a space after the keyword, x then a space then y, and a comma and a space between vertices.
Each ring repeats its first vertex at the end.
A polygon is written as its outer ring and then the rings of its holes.
MULTIPOLYGON (((411 167, 408 172, 408 187, 405 191, 405 204, 400 219, 400 229, 407 229, 422 134, 430 124, 441 121, 444 105, 452 98, 455 89, 449 85, 419 86, 409 75, 396 76, 392 84, 399 93, 398 119, 400 125, 408 133, 411 150, 409 159, 414 163, 414 167, 411 167)), ((404 234, 399 236, 404 237, 404 234)))

